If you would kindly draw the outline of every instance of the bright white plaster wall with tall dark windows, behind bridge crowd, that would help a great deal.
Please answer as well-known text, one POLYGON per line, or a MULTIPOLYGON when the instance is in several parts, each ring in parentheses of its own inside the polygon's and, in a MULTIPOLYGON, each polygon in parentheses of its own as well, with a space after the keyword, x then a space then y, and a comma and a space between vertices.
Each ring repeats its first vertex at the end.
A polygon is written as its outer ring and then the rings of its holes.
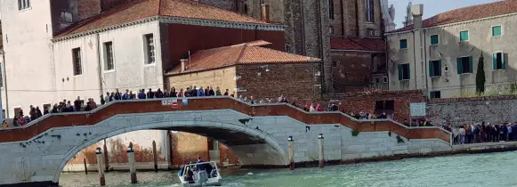
MULTIPOLYGON (((159 23, 149 21, 126 28, 118 28, 96 35, 77 37, 53 44, 56 64, 57 98, 99 98, 106 92, 129 89, 163 89, 162 55, 156 55, 156 62, 146 64, 144 35, 152 34, 159 44, 159 23), (107 42, 111 42, 114 69, 107 69, 107 42), (72 49, 80 48, 82 74, 74 75, 72 49), (99 80, 101 79, 101 81, 99 80), (64 80, 64 81, 63 81, 64 80), (101 83, 101 84, 100 84, 101 83)), ((155 45, 155 53, 161 53, 161 45, 155 45)), ((48 103, 55 103, 48 101, 48 103)))

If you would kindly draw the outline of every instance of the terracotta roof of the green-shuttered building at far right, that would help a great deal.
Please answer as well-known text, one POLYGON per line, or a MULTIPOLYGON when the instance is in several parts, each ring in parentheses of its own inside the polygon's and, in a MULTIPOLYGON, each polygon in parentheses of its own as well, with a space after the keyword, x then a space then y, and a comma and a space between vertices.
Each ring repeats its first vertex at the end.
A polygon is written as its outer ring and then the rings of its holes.
MULTIPOLYGON (((423 20, 423 28, 445 25, 449 23, 463 22, 467 20, 479 20, 499 15, 517 12, 517 0, 505 0, 490 4, 479 4, 443 12, 432 18, 423 20)), ((413 25, 399 28, 392 32, 412 30, 413 25)))

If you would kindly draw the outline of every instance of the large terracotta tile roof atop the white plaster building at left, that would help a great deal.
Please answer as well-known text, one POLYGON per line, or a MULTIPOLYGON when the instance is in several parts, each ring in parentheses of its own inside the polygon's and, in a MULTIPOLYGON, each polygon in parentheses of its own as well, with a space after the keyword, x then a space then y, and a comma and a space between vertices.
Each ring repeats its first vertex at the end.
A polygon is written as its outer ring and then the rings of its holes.
POLYGON ((57 35, 63 37, 97 28, 107 28, 133 20, 154 16, 170 16, 200 20, 222 20, 241 23, 268 24, 237 12, 226 11, 192 0, 124 0, 107 12, 83 20, 57 35))

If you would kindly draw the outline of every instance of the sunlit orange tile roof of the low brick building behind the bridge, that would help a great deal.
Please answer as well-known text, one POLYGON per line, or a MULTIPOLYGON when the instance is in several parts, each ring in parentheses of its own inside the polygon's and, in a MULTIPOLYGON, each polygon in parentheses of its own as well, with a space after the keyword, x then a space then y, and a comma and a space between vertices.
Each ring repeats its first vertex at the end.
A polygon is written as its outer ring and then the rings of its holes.
MULTIPOLYGON (((190 62, 185 64, 187 67, 185 72, 216 69, 238 64, 305 63, 321 61, 317 58, 280 52, 270 48, 254 45, 257 42, 258 41, 240 45, 224 46, 193 53, 190 56, 190 62)), ((178 65, 166 74, 182 73, 181 70, 181 65, 178 65)))

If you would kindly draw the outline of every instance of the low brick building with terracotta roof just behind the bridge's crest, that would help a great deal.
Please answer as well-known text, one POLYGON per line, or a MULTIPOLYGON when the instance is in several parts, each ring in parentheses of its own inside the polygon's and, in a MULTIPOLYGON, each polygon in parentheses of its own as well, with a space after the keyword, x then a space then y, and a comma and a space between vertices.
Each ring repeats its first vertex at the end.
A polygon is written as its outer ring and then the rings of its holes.
POLYGON ((296 101, 319 98, 318 77, 312 67, 319 59, 273 50, 255 41, 193 53, 166 73, 170 87, 220 86, 230 94, 257 100, 287 96, 296 101), (316 85, 316 86, 315 86, 316 85))

